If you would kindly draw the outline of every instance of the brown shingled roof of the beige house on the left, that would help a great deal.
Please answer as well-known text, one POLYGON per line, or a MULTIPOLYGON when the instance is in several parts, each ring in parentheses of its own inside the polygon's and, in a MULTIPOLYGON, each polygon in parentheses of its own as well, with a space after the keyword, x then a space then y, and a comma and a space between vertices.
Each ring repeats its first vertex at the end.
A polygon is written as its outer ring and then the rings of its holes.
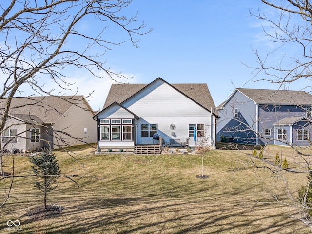
MULTIPOLYGON (((53 124, 78 100, 82 99, 81 95, 12 98, 9 115, 24 121, 31 119, 53 124)), ((0 109, 3 109, 5 100, 0 100, 0 109)))

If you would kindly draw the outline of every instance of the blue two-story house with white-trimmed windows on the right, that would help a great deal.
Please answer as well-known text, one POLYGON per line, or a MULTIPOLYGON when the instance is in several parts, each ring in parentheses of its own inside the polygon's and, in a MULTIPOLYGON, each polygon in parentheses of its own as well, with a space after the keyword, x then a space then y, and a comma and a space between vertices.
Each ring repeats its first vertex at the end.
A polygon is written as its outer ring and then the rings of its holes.
POLYGON ((235 89, 218 106, 217 141, 310 145, 311 107, 304 91, 235 89))

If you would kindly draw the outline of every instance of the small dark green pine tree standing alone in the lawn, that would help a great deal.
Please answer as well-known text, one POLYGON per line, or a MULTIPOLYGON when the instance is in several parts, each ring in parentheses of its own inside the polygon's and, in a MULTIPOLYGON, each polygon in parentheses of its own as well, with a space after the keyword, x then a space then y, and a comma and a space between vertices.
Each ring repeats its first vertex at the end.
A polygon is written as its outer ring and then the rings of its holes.
POLYGON ((39 176, 42 181, 34 181, 34 187, 43 192, 44 209, 47 209, 47 192, 54 190, 57 186, 52 186, 59 178, 60 170, 58 160, 54 154, 49 153, 48 149, 43 149, 39 155, 29 158, 34 164, 31 166, 33 172, 39 176), (54 175, 54 176, 47 176, 54 175))

